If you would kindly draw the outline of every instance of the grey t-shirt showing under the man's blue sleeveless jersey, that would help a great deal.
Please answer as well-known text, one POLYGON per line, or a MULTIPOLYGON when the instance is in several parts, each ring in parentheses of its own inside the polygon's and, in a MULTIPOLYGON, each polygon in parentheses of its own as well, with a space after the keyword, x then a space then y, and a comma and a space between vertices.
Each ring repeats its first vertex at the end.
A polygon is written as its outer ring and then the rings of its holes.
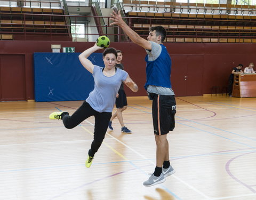
MULTIPOLYGON (((151 51, 146 50, 148 54, 148 61, 154 61, 161 54, 162 47, 156 42, 151 42, 151 41, 149 42, 151 43, 151 51)), ((161 95, 174 95, 174 92, 171 88, 155 86, 155 85, 149 85, 147 87, 147 92, 161 94, 161 95)))

